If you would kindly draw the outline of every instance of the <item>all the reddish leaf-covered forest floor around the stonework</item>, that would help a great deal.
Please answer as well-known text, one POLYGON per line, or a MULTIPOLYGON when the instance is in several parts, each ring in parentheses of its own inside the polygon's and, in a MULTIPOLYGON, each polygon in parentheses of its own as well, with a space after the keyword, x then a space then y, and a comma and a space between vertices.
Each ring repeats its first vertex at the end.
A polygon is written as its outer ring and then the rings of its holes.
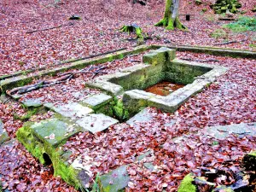
MULTIPOLYGON (((133 5, 131 2, 121 0, 112 0, 108 3, 98 0, 67 0, 59 3, 49 0, 3 1, 0 3, 0 61, 2 63, 0 76, 30 68, 52 67, 59 61, 71 58, 96 55, 114 49, 131 48, 137 45, 137 41, 127 39, 135 38, 135 36, 121 33, 119 28, 132 23, 142 26, 143 32, 147 32, 148 36, 152 38, 145 41, 145 44, 213 46, 213 44, 222 44, 228 41, 241 41, 240 43, 218 45, 218 47, 255 50, 255 46, 252 45, 256 44, 256 32, 237 33, 222 28, 230 21, 218 20, 218 16, 213 15, 209 8, 211 2, 202 2, 199 6, 195 5, 195 2, 189 1, 183 1, 181 4, 180 13, 192 15, 190 21, 184 20, 184 15, 180 16, 183 24, 189 28, 189 32, 183 32, 166 31, 162 27, 154 26, 163 15, 164 2, 162 1, 150 1, 147 6, 133 5), (202 12, 204 8, 207 8, 205 13, 202 12), (72 15, 79 15, 82 20, 67 20, 72 15), (52 26, 61 27, 44 32, 26 33, 52 26), (223 30, 224 34, 213 38, 212 32, 218 29, 223 30)), ((247 10, 246 15, 253 16, 254 13, 250 11, 253 8, 253 1, 251 3, 242 1, 241 3, 243 6, 241 10, 247 10)), ((160 161, 168 161, 172 158, 171 154, 177 147, 172 143, 172 137, 199 131, 206 126, 256 121, 255 60, 189 52, 177 52, 177 57, 192 61, 212 59, 215 61, 209 61, 210 64, 229 67, 229 71, 200 94, 190 98, 176 113, 161 113, 154 108, 148 108, 154 119, 147 125, 142 125, 146 130, 145 133, 140 132, 140 135, 137 136, 138 133, 131 127, 124 127, 121 132, 118 128, 115 131, 115 127, 112 127, 102 133, 102 137, 108 138, 105 142, 109 145, 109 151, 115 147, 111 144, 113 143, 111 138, 121 137, 120 134, 125 134, 129 139, 143 138, 145 141, 154 138, 143 149, 153 148, 156 151, 154 164, 161 166, 160 161), (171 127, 163 127, 164 123, 171 119, 176 119, 176 123, 171 127), (153 131, 147 132, 149 129, 153 131), (164 148, 157 148, 164 143, 164 148)), ((107 71, 115 73, 119 68, 134 65, 131 60, 141 59, 142 55, 137 55, 122 61, 115 61, 107 68, 107 71)), ((108 65, 108 63, 102 65, 108 65)), ((91 76, 88 74, 81 75, 76 79, 71 79, 67 84, 58 84, 50 88, 32 91, 26 97, 39 97, 44 94, 47 101, 67 102, 73 99, 68 93, 84 89, 84 81, 90 78, 91 76)), ((21 116, 26 112, 25 109, 18 102, 0 103, 0 109, 0 119, 3 120, 4 128, 10 137, 15 138, 15 132, 23 125, 23 122, 15 119, 14 115, 21 116)), ((48 119, 51 115, 51 112, 35 115, 32 120, 48 119)), ((86 134, 81 135, 84 138, 83 141, 77 141, 76 137, 71 138, 66 148, 73 148, 76 142, 87 146, 92 143, 92 140, 101 138, 99 135, 87 136, 86 134)), ((197 174, 199 167, 202 166, 201 158, 199 158, 200 160, 191 160, 185 154, 198 154, 206 161, 218 157, 218 162, 212 165, 212 167, 218 166, 218 168, 224 167, 222 164, 224 160, 233 157, 233 163, 225 167, 231 167, 236 171, 239 166, 237 162, 241 161, 242 155, 256 148, 252 143, 255 138, 252 137, 230 137, 227 140, 229 142, 218 141, 218 148, 223 148, 223 153, 219 153, 217 148, 212 151, 209 147, 212 146, 211 138, 202 140, 200 135, 196 135, 196 137, 188 139, 191 143, 197 144, 186 150, 177 150, 176 159, 166 162, 167 168, 161 167, 162 172, 158 175, 138 172, 143 169, 139 167, 140 165, 131 166, 129 172, 132 181, 127 190, 161 191, 166 188, 166 184, 168 191, 177 190, 178 184, 188 172, 197 174), (201 145, 204 146, 203 149, 200 147, 201 145), (233 148, 234 146, 236 148, 233 148), (209 153, 202 155, 204 150, 208 150, 209 153), (166 174, 165 169, 170 174, 166 174), (170 182, 171 180, 172 182, 170 182)), ((138 144, 137 149, 142 150, 140 141, 134 139, 133 142, 138 144)), ((73 150, 75 151, 76 148, 73 150)), ((92 150, 91 155, 94 153, 97 152, 92 150)), ((9 191, 75 191, 60 177, 53 177, 52 167, 40 165, 38 160, 35 160, 20 143, 15 142, 14 145, 1 147, 0 154, 0 177, 4 189, 9 189, 9 191)), ((104 166, 113 165, 104 164, 104 166)), ((98 168, 99 172, 101 172, 101 168, 98 168)), ((108 168, 104 167, 104 172, 107 171, 108 168)), ((218 182, 225 183, 226 181, 220 179, 218 182)))

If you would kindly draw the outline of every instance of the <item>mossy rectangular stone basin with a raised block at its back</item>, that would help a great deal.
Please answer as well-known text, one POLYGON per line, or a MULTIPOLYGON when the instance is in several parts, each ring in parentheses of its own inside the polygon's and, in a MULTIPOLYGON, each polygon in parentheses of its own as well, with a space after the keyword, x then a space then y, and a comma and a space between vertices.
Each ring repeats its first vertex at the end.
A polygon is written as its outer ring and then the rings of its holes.
POLYGON ((124 106, 131 114, 148 106, 172 113, 227 70, 216 65, 179 60, 175 56, 175 49, 162 47, 151 50, 143 55, 142 64, 102 76, 87 85, 105 90, 113 96, 123 96, 124 106), (163 81, 184 86, 166 96, 144 91, 163 81))

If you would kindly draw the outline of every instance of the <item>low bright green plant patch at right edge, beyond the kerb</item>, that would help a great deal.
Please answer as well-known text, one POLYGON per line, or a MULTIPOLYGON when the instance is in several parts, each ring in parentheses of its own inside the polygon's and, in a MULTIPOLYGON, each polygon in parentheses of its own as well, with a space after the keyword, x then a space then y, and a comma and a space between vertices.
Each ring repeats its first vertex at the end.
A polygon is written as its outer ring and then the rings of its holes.
POLYGON ((230 29, 232 32, 256 32, 256 18, 241 16, 236 22, 224 25, 224 28, 230 29))

